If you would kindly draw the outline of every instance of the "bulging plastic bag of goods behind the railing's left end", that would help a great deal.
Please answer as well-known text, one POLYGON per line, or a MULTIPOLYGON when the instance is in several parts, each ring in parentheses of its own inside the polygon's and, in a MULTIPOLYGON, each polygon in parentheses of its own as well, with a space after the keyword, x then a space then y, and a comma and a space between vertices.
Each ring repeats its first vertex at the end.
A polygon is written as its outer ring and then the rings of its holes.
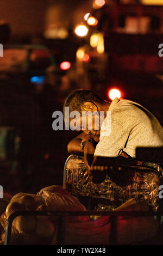
MULTIPOLYGON (((35 194, 18 193, 11 198, 1 224, 5 229, 8 217, 15 211, 86 211, 77 198, 61 186, 43 188, 35 194)), ((88 217, 66 217, 66 222, 83 222, 88 217)), ((12 223, 12 244, 55 244, 57 216, 17 216, 12 223)), ((4 239, 4 234, 2 236, 4 239)))

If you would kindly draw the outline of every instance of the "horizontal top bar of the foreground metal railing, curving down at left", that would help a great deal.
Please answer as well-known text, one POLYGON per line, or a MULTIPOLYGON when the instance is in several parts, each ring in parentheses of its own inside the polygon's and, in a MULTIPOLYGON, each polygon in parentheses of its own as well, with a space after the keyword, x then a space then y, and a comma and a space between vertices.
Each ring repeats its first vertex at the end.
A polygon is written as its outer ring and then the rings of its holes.
MULTIPOLYGON (((12 222, 17 216, 96 216, 98 214, 101 216, 130 216, 130 217, 138 217, 138 216, 163 216, 163 211, 159 212, 148 212, 148 211, 15 211, 13 212, 8 220, 5 229, 5 241, 4 245, 10 245, 11 239, 11 227, 12 222)), ((115 221, 113 219, 112 221, 115 221)), ((112 224, 113 225, 113 224, 112 224)), ((113 225, 116 227, 116 222, 113 225)), ((65 229, 65 224, 63 224, 62 229, 65 229)), ((64 233, 62 233, 64 234, 64 233)), ((113 235, 115 236, 115 234, 113 235)), ((60 238, 61 242, 63 242, 62 238, 60 238)))

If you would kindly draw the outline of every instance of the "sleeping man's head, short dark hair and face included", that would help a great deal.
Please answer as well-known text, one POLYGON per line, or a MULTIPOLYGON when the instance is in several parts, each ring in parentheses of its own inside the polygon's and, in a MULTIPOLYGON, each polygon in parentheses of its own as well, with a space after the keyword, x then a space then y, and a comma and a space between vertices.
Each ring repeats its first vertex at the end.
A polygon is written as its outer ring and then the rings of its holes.
MULTIPOLYGON (((99 117, 99 112, 103 111, 103 106, 107 105, 109 102, 105 101, 99 97, 96 93, 91 90, 78 89, 69 94, 64 103, 65 107, 69 107, 69 112, 76 111, 80 114, 80 124, 82 127, 82 122, 84 120, 84 113, 90 113, 86 116, 86 129, 81 129, 85 133, 92 133, 93 135, 99 135, 99 130, 97 130, 97 115, 99 117), (93 115, 92 115, 93 113, 93 115), (96 119, 96 120, 95 120, 96 119), (92 128, 88 127, 89 121, 92 122, 92 128), (96 127, 95 127, 96 126, 96 127)), ((108 109, 107 109, 108 110, 108 109)), ((98 119, 99 121, 99 119, 98 119)), ((100 126, 98 126, 100 127, 100 126)))

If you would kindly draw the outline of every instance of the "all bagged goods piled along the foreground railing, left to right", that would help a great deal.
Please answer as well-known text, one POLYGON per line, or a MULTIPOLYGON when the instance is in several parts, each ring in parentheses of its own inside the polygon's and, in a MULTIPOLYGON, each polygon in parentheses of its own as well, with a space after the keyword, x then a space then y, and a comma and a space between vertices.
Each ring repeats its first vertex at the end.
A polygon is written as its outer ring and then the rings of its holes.
MULTIPOLYGON (((10 214, 20 210, 86 211, 85 206, 61 186, 43 188, 36 195, 18 193, 11 198, 1 216, 4 229, 10 214)), ((115 211, 149 211, 149 205, 146 200, 136 203, 135 199, 130 199, 115 211)), ((153 216, 120 216, 117 220, 117 236, 114 243, 136 244, 153 238, 158 234, 158 230, 159 223, 153 216)), ((57 234, 60 231, 58 216, 18 216, 12 223, 11 244, 56 245, 57 234)), ((110 245, 110 237, 111 225, 108 216, 99 217, 95 221, 88 216, 66 217, 65 245, 110 245)), ((4 240, 4 235, 2 239, 4 240)))

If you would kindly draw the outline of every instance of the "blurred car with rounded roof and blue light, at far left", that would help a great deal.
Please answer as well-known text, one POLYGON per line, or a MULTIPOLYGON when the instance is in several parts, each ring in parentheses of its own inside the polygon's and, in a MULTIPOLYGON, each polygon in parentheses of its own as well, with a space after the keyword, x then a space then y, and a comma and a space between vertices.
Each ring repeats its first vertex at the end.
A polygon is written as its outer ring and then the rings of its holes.
POLYGON ((55 72, 52 53, 43 45, 3 45, 0 80, 42 83, 48 71, 55 72))

